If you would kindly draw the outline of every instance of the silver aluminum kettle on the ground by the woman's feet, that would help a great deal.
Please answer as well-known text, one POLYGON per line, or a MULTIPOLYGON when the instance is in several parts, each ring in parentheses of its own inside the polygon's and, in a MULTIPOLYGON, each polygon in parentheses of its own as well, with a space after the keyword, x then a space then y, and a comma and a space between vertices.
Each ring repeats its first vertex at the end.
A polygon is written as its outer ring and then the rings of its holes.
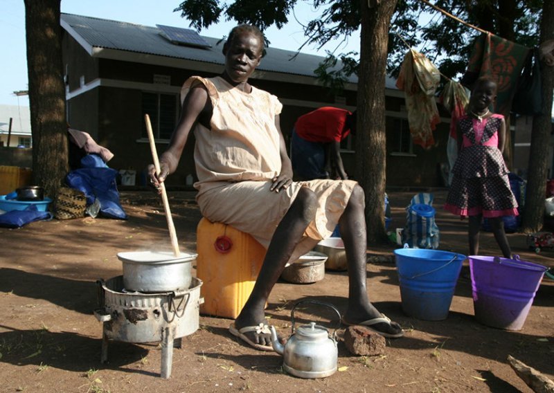
POLYGON ((283 355, 285 372, 300 378, 323 378, 337 371, 339 351, 337 349, 337 329, 331 334, 328 329, 316 322, 294 328, 294 309, 298 304, 312 303, 330 307, 339 316, 341 314, 331 304, 315 300, 302 300, 292 307, 292 336, 285 345, 281 344, 274 326, 271 329, 271 345, 278 354, 283 355))

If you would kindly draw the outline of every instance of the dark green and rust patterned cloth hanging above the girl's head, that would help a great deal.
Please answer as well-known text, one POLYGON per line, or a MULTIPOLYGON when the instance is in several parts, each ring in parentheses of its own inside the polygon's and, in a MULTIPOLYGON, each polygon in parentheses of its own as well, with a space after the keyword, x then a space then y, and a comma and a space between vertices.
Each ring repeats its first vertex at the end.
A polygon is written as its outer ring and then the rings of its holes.
POLYGON ((461 84, 471 89, 477 78, 492 77, 498 87, 493 111, 508 118, 517 79, 529 51, 529 48, 497 35, 483 33, 475 39, 470 62, 467 64, 467 71, 462 77, 461 84))

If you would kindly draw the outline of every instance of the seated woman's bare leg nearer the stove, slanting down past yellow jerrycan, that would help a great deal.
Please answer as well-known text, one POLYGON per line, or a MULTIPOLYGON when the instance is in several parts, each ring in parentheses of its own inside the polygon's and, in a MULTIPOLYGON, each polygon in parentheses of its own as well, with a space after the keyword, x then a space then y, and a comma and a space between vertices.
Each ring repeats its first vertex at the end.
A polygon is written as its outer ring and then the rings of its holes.
MULTIPOLYGON (((265 322, 264 307, 269 293, 279 279, 289 258, 302 238, 308 224, 314 219, 317 208, 316 195, 309 188, 301 188, 283 220, 271 238, 267 248, 260 274, 250 297, 235 320, 235 327, 240 329, 256 326, 265 322)), ((270 345, 267 334, 245 333, 250 340, 261 345, 270 345)))

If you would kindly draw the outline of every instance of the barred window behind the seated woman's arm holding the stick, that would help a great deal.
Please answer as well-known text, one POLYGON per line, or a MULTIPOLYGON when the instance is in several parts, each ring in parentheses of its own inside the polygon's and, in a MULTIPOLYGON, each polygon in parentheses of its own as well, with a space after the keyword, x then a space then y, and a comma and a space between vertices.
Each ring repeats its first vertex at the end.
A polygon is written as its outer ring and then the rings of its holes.
MULTIPOLYGON (((143 92, 143 116, 148 113, 152 123, 152 132, 156 139, 169 139, 177 125, 179 115, 179 96, 175 94, 143 92)), ((147 138, 143 125, 143 138, 147 138)))

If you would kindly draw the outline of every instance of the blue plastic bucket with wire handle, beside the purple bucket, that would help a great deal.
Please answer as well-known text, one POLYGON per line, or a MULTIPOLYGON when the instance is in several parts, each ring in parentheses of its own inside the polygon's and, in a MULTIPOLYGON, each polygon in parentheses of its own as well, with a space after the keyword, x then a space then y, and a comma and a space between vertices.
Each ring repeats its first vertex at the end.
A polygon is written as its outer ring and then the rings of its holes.
POLYGON ((465 255, 422 248, 394 251, 402 311, 421 320, 444 320, 465 255))

